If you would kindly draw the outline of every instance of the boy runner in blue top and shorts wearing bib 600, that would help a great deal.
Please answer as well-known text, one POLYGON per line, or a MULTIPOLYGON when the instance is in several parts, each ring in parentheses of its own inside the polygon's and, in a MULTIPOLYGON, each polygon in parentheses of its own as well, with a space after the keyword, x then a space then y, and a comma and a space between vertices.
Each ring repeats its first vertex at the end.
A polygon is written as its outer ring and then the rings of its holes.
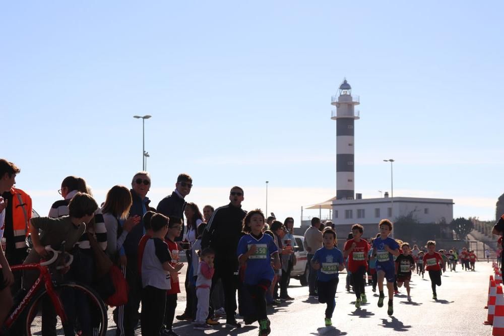
POLYGON ((376 256, 376 273, 378 275, 378 289, 380 297, 378 298, 378 306, 383 307, 385 294, 383 293, 383 281, 387 279, 387 289, 389 292, 389 309, 387 314, 394 314, 393 299, 394 299, 394 280, 395 265, 394 255, 399 255, 399 244, 389 234, 392 232, 392 223, 388 219, 383 219, 378 224, 380 228, 380 238, 373 241, 374 255, 376 256))

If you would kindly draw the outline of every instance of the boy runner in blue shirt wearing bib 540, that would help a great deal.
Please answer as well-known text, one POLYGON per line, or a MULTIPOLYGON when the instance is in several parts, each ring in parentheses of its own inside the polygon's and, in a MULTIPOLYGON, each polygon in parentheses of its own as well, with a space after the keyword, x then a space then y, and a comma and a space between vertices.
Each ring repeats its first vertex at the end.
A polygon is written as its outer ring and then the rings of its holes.
POLYGON ((339 281, 338 272, 345 268, 345 261, 343 253, 334 246, 337 244, 336 232, 324 230, 323 239, 324 246, 315 252, 310 262, 313 269, 317 270, 319 302, 327 304, 325 322, 326 326, 330 326, 333 325, 331 318, 336 306, 334 296, 339 281))

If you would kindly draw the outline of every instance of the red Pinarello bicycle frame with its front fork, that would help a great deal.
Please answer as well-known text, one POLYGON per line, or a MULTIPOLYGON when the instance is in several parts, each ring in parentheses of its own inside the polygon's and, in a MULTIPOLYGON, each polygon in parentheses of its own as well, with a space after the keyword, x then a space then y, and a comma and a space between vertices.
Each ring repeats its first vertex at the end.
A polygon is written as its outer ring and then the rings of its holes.
POLYGON ((30 301, 33 299, 33 297, 38 293, 42 284, 45 285, 47 294, 49 295, 52 304, 54 306, 54 310, 56 311, 56 314, 59 315, 59 317, 61 318, 61 323, 65 323, 67 321, 67 315, 65 314, 65 310, 63 308, 63 304, 61 303, 61 300, 59 299, 59 296, 54 291, 54 286, 52 285, 51 280, 51 274, 49 273, 49 269, 47 268, 47 266, 41 266, 38 263, 29 263, 25 265, 11 266, 11 270, 12 271, 38 270, 40 274, 35 283, 33 284, 33 286, 28 291, 28 293, 26 293, 23 300, 19 303, 19 305, 13 310, 11 315, 9 315, 7 320, 4 322, 4 328, 3 328, 4 330, 5 329, 9 330, 9 328, 14 324, 14 322, 18 319, 18 317, 21 315, 21 313, 25 310, 30 301))

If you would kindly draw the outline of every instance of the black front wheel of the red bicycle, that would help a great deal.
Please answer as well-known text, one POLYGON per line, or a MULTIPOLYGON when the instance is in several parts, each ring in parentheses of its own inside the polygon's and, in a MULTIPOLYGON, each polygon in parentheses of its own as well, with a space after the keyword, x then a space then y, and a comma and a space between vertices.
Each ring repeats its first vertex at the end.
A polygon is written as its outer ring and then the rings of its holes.
POLYGON ((84 284, 63 282, 54 286, 61 300, 68 321, 62 323, 55 313, 52 301, 44 288, 27 308, 26 334, 44 333, 65 335, 104 336, 107 332, 107 310, 100 296, 84 284), (43 321, 42 321, 43 319, 43 321))

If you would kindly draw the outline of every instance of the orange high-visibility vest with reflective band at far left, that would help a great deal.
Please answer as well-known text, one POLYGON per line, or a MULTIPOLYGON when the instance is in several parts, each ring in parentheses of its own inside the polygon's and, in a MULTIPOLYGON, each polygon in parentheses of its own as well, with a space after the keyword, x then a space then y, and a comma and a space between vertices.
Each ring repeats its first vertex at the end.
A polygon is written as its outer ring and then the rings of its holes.
POLYGON ((11 188, 12 194, 12 223, 14 230, 14 241, 16 248, 26 248, 26 237, 28 236, 29 223, 32 217, 31 197, 21 189, 11 188))

